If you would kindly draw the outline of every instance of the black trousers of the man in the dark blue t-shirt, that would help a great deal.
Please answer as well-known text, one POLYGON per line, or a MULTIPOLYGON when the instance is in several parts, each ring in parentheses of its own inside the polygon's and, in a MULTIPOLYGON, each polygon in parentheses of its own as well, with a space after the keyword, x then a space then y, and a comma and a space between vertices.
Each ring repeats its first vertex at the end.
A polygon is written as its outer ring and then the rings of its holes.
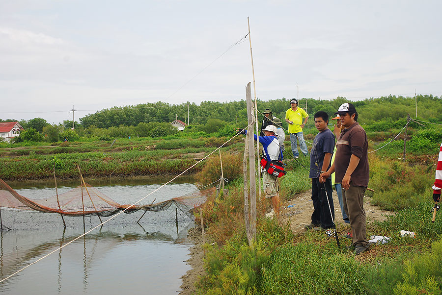
POLYGON ((331 216, 334 220, 334 207, 331 192, 331 179, 326 179, 324 183, 320 183, 319 178, 311 179, 311 200, 313 201, 314 208, 311 215, 311 223, 321 224, 322 228, 333 227, 331 216))

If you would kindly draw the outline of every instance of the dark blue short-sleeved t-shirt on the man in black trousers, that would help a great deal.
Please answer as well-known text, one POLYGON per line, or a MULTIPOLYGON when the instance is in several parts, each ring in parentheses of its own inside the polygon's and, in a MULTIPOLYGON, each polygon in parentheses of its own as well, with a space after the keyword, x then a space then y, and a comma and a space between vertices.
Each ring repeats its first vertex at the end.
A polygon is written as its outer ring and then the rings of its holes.
MULTIPOLYGON (((324 156, 327 152, 333 153, 334 149, 334 135, 330 129, 325 129, 319 132, 313 140, 313 147, 310 151, 310 178, 319 178, 322 164, 324 163, 324 156)), ((329 164, 330 169, 331 164, 329 164)))

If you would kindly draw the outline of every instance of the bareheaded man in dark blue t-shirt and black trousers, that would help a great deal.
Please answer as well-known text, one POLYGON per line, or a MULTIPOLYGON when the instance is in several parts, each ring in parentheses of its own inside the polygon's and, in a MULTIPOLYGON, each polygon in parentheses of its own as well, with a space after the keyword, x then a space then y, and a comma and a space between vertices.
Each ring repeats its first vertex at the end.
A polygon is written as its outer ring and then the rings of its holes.
POLYGON ((324 182, 319 181, 322 171, 327 171, 331 164, 331 155, 334 148, 334 135, 327 127, 329 115, 319 111, 315 114, 315 127, 319 133, 313 140, 313 147, 310 151, 310 174, 311 178, 311 199, 313 201, 313 214, 311 223, 305 228, 313 230, 328 229, 333 227, 334 207, 331 197, 331 177, 324 182))

